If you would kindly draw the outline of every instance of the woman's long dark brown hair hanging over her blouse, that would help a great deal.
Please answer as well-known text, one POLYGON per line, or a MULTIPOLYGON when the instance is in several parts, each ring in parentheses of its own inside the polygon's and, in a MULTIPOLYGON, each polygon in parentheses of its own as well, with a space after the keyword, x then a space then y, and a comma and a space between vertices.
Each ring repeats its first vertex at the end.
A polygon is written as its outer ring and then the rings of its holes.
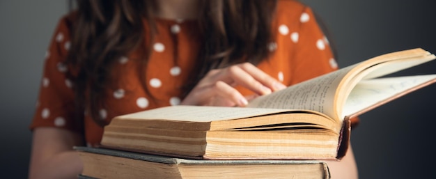
MULTIPOLYGON (((201 49, 190 78, 193 80, 185 86, 186 94, 210 69, 244 61, 257 64, 266 59, 267 44, 273 36, 271 23, 277 0, 200 3, 201 49)), ((152 0, 70 0, 70 6, 75 6, 75 11, 71 15, 72 45, 66 62, 77 72, 72 75, 77 104, 81 111, 91 112, 93 119, 104 125, 98 109, 104 105, 103 92, 116 81, 111 76, 114 62, 139 47, 147 47, 138 51, 143 52, 139 74, 145 79, 143 70, 157 33, 154 18, 157 4, 152 0), (144 29, 144 18, 149 29, 144 29), (146 36, 148 40, 144 40, 146 36)))

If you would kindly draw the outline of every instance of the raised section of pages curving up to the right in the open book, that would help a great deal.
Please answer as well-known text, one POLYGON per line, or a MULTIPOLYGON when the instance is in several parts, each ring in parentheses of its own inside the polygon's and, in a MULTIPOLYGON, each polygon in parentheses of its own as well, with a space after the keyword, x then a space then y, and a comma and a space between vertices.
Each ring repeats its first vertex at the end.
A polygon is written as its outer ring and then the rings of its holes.
MULTIPOLYGON (((349 114, 348 112, 345 113, 345 109, 343 109, 343 106, 347 105, 345 100, 358 81, 388 75, 433 59, 435 59, 435 56, 423 49, 410 49, 376 56, 336 72, 330 72, 327 75, 295 84, 282 91, 261 96, 251 100, 248 106, 309 109, 342 120, 343 116, 349 114), (341 88, 338 86, 341 86, 341 88)), ((358 106, 355 107, 355 109, 350 110, 358 110, 358 106)), ((361 111, 364 109, 361 108, 361 111)))

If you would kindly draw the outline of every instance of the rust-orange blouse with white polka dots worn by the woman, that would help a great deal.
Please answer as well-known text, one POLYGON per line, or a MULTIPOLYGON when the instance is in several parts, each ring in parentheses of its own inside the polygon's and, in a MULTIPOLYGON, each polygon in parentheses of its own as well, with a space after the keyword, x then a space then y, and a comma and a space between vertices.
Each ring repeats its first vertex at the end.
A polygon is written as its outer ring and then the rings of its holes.
MULTIPOLYGON (((63 17, 47 50, 37 108, 30 125, 58 127, 84 132, 88 146, 100 143, 103 129, 84 111, 84 118, 74 118, 74 85, 65 75, 63 61, 70 48, 70 29, 63 17)), ((336 70, 329 42, 320 30, 310 8, 296 1, 279 1, 272 29, 275 40, 265 44, 272 54, 258 68, 292 85, 336 70)), ((137 77, 132 56, 120 58, 114 72, 120 77, 118 88, 107 89, 107 108, 100 109, 100 118, 110 121, 114 116, 136 111, 177 105, 182 100, 181 86, 198 53, 198 26, 194 20, 157 19, 149 65, 146 68, 146 93, 137 77), (174 40, 176 39, 176 40, 174 40), (176 53, 175 53, 176 51, 176 53), (175 58, 174 54, 178 54, 175 58), (176 60, 175 60, 176 59, 176 60), (150 95, 153 96, 150 96, 150 95), (155 102, 157 99, 158 102, 155 102)), ((249 91, 242 93, 248 95, 249 91)))

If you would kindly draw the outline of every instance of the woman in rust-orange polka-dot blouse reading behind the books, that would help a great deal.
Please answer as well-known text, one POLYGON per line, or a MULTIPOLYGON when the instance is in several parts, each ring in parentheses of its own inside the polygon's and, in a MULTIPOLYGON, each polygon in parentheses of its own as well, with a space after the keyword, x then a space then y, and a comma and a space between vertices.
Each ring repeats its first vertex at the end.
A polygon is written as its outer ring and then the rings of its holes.
MULTIPOLYGON (((298 1, 77 1, 47 51, 29 178, 75 178, 72 146, 98 146, 114 116, 176 104, 240 106, 336 70, 298 1)), ((329 162, 357 178, 352 151, 329 162)))

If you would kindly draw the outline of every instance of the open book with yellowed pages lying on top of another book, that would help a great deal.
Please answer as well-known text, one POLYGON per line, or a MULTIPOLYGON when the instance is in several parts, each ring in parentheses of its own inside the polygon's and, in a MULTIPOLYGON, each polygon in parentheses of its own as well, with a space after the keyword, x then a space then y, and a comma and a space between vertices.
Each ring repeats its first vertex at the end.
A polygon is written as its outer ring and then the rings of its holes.
POLYGON ((435 59, 423 49, 377 56, 270 95, 248 107, 173 106, 114 118, 102 146, 202 159, 341 159, 350 118, 436 82, 385 77, 435 59))

